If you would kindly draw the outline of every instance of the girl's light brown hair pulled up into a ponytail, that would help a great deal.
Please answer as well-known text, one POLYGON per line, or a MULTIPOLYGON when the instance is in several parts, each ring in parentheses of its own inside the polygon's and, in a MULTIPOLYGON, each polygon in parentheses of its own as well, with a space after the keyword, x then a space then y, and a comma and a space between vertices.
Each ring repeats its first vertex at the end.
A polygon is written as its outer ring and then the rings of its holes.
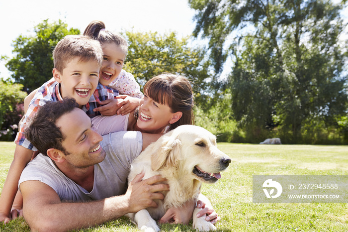
POLYGON ((127 55, 128 44, 127 41, 118 33, 105 30, 105 23, 99 20, 91 21, 85 31, 84 35, 87 35, 93 39, 98 40, 101 45, 103 43, 115 43, 124 50, 127 55))

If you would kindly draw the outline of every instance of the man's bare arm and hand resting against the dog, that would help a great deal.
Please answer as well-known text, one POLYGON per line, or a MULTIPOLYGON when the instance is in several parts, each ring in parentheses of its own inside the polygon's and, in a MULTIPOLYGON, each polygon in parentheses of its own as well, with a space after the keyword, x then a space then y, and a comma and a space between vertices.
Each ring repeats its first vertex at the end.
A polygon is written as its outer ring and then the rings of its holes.
POLYGON ((168 191, 164 181, 154 176, 141 181, 138 174, 130 183, 125 195, 90 202, 61 202, 57 193, 40 181, 25 181, 20 184, 23 194, 23 215, 33 231, 68 231, 98 225, 119 218, 127 213, 138 212, 147 207, 156 207, 154 199, 164 199, 158 191, 168 191))

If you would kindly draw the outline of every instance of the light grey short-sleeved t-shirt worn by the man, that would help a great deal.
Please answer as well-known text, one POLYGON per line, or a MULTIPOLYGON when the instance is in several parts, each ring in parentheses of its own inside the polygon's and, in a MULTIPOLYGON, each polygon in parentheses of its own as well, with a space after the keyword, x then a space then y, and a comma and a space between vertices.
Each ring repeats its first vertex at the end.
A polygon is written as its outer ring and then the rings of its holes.
POLYGON ((103 136, 101 145, 106 157, 94 165, 94 185, 91 192, 66 177, 51 158, 42 154, 37 155, 24 168, 18 186, 24 181, 41 181, 54 189, 61 201, 100 200, 122 195, 127 190, 130 165, 142 150, 142 134, 139 131, 110 133, 103 136))

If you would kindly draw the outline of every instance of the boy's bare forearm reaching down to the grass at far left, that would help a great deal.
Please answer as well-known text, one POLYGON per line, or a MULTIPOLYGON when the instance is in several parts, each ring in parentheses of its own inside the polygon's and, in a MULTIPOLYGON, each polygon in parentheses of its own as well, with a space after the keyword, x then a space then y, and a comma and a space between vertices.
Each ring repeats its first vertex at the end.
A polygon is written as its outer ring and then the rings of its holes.
POLYGON ((0 221, 9 222, 10 210, 14 197, 18 190, 18 180, 25 165, 30 161, 33 151, 16 145, 11 166, 8 169, 7 177, 0 196, 0 221))

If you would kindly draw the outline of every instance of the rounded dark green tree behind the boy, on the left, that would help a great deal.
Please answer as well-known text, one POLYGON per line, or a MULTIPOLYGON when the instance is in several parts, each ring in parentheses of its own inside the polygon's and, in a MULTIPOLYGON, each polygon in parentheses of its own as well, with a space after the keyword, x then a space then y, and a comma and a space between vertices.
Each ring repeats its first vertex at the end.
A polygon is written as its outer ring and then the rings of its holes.
POLYGON ((52 52, 65 35, 80 34, 79 29, 70 28, 61 20, 49 23, 44 20, 34 27, 34 36, 20 35, 13 41, 12 59, 7 60, 6 68, 11 71, 15 83, 22 84, 30 93, 52 78, 52 52))

